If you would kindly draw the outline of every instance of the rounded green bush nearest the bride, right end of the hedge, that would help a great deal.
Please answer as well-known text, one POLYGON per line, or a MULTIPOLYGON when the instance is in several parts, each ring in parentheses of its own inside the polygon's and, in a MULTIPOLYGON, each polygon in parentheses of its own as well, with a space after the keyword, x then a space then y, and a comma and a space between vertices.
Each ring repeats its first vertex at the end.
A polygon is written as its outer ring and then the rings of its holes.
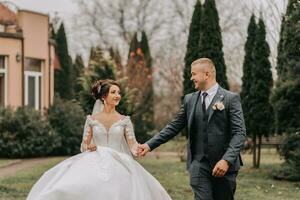
POLYGON ((58 133, 61 145, 53 151, 53 155, 73 155, 79 153, 82 140, 85 114, 75 100, 56 98, 48 109, 48 120, 58 133))

